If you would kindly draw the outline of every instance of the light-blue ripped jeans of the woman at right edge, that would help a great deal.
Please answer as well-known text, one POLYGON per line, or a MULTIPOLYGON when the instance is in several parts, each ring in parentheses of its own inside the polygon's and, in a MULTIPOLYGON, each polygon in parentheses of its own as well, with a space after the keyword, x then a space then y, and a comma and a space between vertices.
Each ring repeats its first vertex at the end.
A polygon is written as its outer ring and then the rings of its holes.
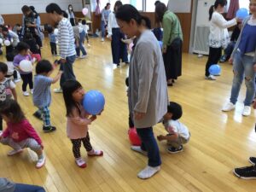
POLYGON ((244 100, 244 105, 250 106, 253 102, 253 97, 255 94, 255 73, 253 71, 253 56, 242 55, 239 51, 236 51, 234 55, 233 71, 234 79, 232 84, 230 102, 236 104, 242 80, 245 79, 247 93, 244 100))

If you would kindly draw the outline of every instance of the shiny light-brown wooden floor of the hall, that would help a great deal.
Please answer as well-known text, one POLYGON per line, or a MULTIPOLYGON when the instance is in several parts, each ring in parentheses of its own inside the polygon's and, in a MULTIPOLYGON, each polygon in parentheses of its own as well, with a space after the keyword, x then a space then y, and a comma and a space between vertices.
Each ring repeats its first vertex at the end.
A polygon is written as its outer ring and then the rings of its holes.
MULTIPOLYGON (((35 168, 36 154, 25 150, 23 154, 8 157, 9 147, 0 145, 0 177, 9 177, 18 183, 43 185, 50 192, 76 191, 255 191, 256 181, 245 181, 233 175, 236 166, 249 165, 247 159, 256 155, 254 132, 256 113, 242 117, 245 85, 241 90, 236 111, 221 112, 229 100, 232 81, 231 65, 222 65, 217 81, 204 79, 207 57, 183 54, 183 76, 168 88, 170 100, 183 106, 181 121, 189 127, 191 140, 183 153, 166 153, 166 143, 159 143, 162 158, 161 171, 148 180, 137 178, 147 158, 130 149, 127 137, 128 110, 125 78, 128 66, 112 65, 109 42, 91 38, 86 48, 88 57, 77 60, 74 72, 84 90, 101 90, 106 98, 102 116, 90 125, 91 143, 104 151, 103 157, 88 158, 88 166, 80 169, 74 163, 72 145, 66 135, 66 117, 61 94, 52 94, 51 119, 57 127, 54 133, 44 133, 42 122, 32 113, 32 96, 21 95, 21 82, 17 92, 26 117, 44 142, 46 165, 35 168)), ((54 61, 44 42, 43 57, 54 61)), ((5 61, 3 56, 1 61, 5 61)), ((56 73, 56 72, 55 72, 56 73)), ((53 88, 58 87, 54 84, 53 88)), ((162 125, 154 127, 155 136, 165 134, 162 125)))

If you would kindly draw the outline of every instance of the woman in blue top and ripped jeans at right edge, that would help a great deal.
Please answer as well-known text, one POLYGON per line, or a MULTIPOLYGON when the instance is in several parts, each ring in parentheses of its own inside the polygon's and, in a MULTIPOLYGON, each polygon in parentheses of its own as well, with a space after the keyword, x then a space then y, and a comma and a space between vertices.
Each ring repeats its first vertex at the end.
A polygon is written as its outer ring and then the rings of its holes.
POLYGON ((255 95, 255 71, 256 71, 256 0, 251 0, 249 5, 250 13, 242 22, 239 38, 230 56, 233 62, 233 84, 231 89, 230 102, 222 109, 224 112, 236 108, 237 97, 241 89, 241 83, 245 79, 247 86, 246 98, 244 100, 243 116, 251 114, 250 105, 255 95))

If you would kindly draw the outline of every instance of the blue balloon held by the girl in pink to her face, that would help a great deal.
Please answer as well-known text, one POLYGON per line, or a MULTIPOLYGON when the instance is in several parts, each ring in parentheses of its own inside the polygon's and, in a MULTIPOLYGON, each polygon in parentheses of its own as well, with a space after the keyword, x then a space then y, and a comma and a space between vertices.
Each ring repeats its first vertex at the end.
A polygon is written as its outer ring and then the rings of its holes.
POLYGON ((105 98, 98 90, 90 90, 85 93, 83 107, 87 113, 96 115, 102 112, 105 105, 105 98))

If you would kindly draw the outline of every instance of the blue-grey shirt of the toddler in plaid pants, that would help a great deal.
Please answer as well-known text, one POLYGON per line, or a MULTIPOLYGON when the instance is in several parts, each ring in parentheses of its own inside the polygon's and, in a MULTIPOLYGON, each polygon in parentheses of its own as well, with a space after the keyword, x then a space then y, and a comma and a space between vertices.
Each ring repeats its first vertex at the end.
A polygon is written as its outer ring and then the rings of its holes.
POLYGON ((33 102, 38 108, 49 107, 51 102, 50 84, 52 79, 44 75, 35 75, 33 102))

